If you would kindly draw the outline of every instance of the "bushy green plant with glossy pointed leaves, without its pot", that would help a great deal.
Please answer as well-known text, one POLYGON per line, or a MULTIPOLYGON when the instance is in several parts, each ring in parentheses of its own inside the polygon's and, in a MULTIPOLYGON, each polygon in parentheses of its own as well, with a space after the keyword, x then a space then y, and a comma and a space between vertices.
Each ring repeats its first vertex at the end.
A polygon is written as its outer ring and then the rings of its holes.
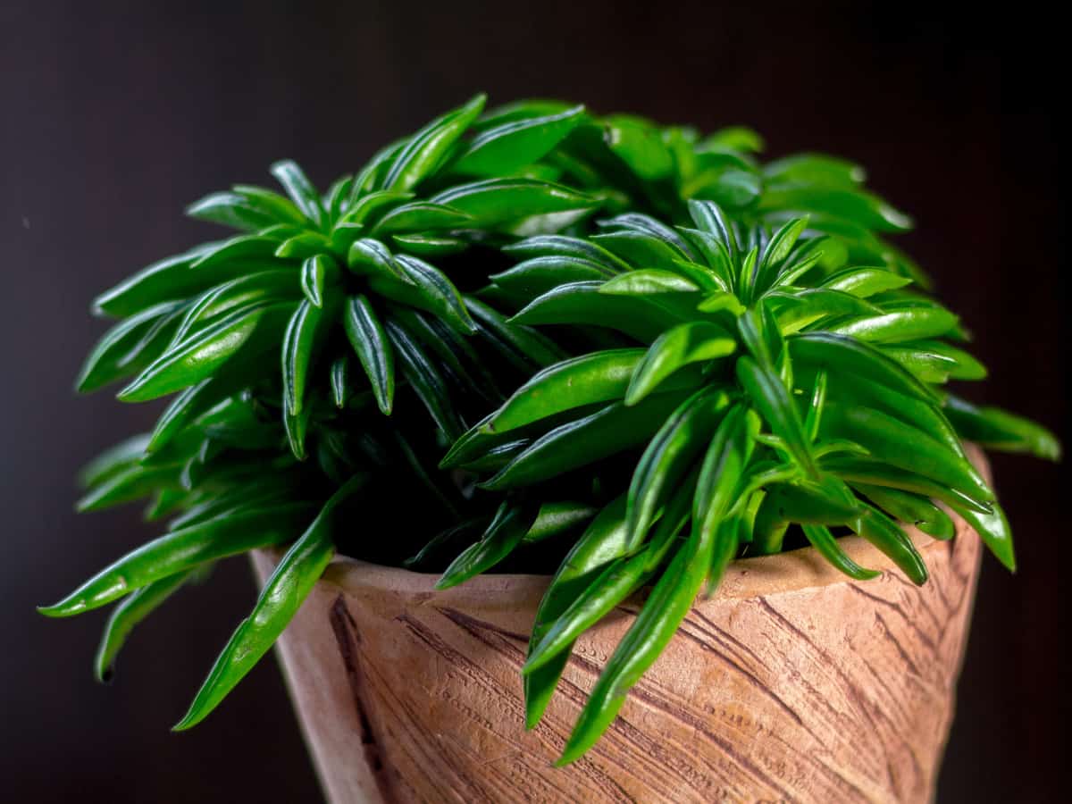
POLYGON ((522 669, 535 726, 577 638, 651 594, 562 762, 584 754, 733 557, 812 544, 855 579, 857 533, 914 582, 898 523, 950 511, 1009 568, 1011 535, 963 441, 1057 459, 1042 428, 946 390, 985 369, 926 276, 884 239, 908 219, 842 160, 763 164, 759 137, 483 96, 319 194, 238 185, 194 204, 239 229, 102 295, 120 321, 78 388, 174 394, 105 452, 81 509, 151 497, 167 532, 55 606, 119 601, 131 629, 221 559, 291 544, 187 716, 271 646, 336 551, 440 587, 547 572, 522 669), (396 517, 402 533, 355 534, 396 517), (414 540, 406 534, 430 534, 414 540))

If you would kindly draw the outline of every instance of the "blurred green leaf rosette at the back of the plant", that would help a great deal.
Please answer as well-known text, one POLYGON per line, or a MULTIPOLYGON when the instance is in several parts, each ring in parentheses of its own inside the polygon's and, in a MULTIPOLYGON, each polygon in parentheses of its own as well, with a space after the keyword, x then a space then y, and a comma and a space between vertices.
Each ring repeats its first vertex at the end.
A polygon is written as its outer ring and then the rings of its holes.
MULTIPOLYGON (((563 114, 561 102, 521 102, 491 119, 563 114)), ((688 225, 689 200, 713 200, 736 221, 777 226, 808 215, 810 228, 833 235, 828 244, 855 263, 882 265, 913 278, 926 274, 887 237, 911 228, 911 219, 864 187, 866 173, 822 153, 798 153, 763 163, 763 139, 744 126, 708 135, 688 125, 659 125, 637 115, 590 117, 539 165, 556 180, 604 199, 610 212, 655 214, 688 225)), ((831 254, 831 256, 833 256, 831 254)))

